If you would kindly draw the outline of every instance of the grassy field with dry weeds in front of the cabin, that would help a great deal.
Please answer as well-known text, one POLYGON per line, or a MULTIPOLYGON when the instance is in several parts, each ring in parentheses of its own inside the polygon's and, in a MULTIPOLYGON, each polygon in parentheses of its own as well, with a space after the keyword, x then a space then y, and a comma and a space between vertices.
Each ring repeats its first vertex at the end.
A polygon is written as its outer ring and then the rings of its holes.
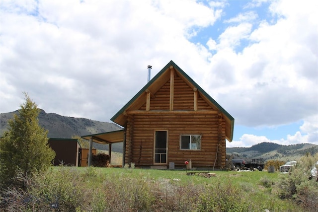
POLYGON ((185 170, 52 167, 29 180, 27 192, 5 193, 14 201, 5 200, 2 193, 1 204, 13 211, 48 211, 55 202, 59 211, 304 211, 279 199, 280 173, 214 173, 206 178, 189 176, 185 170))

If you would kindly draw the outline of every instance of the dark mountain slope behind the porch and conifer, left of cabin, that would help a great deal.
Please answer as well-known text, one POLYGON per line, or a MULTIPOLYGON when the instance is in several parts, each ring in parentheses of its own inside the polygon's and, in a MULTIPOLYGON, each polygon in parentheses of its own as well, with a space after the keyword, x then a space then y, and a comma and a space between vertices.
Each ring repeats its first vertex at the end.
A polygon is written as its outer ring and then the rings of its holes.
MULTIPOLYGON (((8 128, 8 120, 12 119, 13 114, 17 113, 18 110, 0 114, 1 136, 8 128)), ((93 121, 85 118, 66 117, 55 113, 46 113, 42 109, 40 109, 38 119, 39 125, 48 130, 49 138, 71 139, 73 136, 80 137, 122 129, 114 123, 93 121)), ((108 145, 104 144, 93 143, 93 147, 96 149, 108 150, 108 145)), ((114 143, 114 145, 112 145, 112 150, 122 152, 122 143, 114 143)))

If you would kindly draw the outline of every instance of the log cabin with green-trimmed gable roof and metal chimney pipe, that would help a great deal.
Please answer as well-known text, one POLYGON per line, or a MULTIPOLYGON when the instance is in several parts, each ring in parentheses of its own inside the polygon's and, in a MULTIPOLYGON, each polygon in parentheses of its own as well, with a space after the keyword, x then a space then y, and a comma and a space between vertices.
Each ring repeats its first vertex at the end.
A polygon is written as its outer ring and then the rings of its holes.
POLYGON ((111 121, 124 128, 117 137, 82 138, 109 143, 110 152, 112 142, 123 141, 123 164, 136 167, 184 167, 191 160, 192 167, 222 168, 234 131, 234 118, 173 61, 111 121))

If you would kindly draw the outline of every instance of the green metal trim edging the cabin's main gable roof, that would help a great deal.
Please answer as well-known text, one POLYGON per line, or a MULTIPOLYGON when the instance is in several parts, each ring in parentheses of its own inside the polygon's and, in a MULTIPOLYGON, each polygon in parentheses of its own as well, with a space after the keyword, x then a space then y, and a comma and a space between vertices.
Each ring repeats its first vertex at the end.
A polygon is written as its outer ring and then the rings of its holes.
POLYGON ((114 121, 117 117, 122 114, 145 90, 155 82, 159 76, 166 71, 170 66, 173 66, 177 71, 179 71, 190 83, 192 83, 205 97, 207 97, 228 119, 231 120, 231 141, 233 140, 234 132, 234 118, 217 103, 207 92, 205 92, 191 77, 182 71, 173 61, 170 61, 161 71, 159 71, 154 78, 152 78, 120 111, 118 111, 110 120, 114 121))

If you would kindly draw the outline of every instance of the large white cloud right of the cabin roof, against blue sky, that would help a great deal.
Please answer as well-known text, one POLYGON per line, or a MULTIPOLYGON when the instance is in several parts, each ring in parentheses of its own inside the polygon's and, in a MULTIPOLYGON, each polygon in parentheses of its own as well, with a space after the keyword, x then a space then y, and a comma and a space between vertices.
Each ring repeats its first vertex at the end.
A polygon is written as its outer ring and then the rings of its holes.
MULTIPOLYGON (((285 1, 275 3, 285 9, 285 1)), ((309 17, 316 14, 312 11, 309 17)), ((297 13, 305 16, 306 12, 297 13)), ((289 11, 281 14, 275 24, 263 21, 252 31, 249 25, 230 26, 220 35, 219 43, 208 42, 211 49, 224 48, 210 59, 212 66, 204 87, 216 93, 216 100, 225 105, 237 124, 274 126, 317 114, 317 21, 305 23, 305 18, 298 20, 289 11), (233 30, 237 28, 240 30, 233 30), (249 40, 249 45, 235 53, 241 38, 249 40), (235 104, 227 104, 231 101, 235 104)))

